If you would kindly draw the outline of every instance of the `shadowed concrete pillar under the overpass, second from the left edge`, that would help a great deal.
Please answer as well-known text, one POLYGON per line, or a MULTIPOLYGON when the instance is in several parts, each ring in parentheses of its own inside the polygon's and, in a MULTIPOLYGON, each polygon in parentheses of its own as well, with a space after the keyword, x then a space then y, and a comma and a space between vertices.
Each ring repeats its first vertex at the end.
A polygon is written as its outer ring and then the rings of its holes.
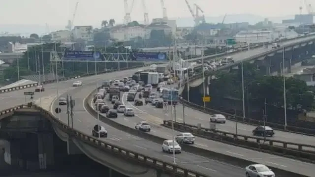
POLYGON ((55 165, 54 135, 52 133, 38 133, 37 136, 39 169, 52 169, 55 165))

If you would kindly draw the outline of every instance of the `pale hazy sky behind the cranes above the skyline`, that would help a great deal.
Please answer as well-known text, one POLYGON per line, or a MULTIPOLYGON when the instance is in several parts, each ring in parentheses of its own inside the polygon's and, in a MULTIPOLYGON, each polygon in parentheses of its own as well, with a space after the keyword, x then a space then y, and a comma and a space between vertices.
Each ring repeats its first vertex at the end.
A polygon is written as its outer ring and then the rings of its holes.
MULTIPOLYGON (((0 0, 0 24, 66 25, 72 16, 76 1, 0 0)), ((128 1, 131 4, 131 0, 128 1)), ((162 16, 160 0, 145 1, 150 19, 162 16)), ((168 17, 190 16, 185 0, 164 1, 168 17)), ((308 1, 312 3, 312 0, 308 1)), ((206 16, 219 16, 225 13, 252 13, 264 17, 284 16, 298 14, 301 5, 300 0, 189 0, 189 2, 191 5, 197 3, 206 16)), ((95 25, 110 18, 114 18, 117 23, 123 22, 124 0, 79 0, 74 25, 95 25)), ((131 18, 143 21, 141 0, 135 0, 131 18)))

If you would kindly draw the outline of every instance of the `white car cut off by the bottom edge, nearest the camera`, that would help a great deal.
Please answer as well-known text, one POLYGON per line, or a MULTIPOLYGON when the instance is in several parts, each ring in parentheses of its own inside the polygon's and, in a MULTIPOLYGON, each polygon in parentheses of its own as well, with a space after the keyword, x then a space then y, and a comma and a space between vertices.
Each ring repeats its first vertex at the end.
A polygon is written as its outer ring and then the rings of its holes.
POLYGON ((253 164, 245 167, 246 177, 275 177, 275 173, 267 166, 262 164, 253 164))

